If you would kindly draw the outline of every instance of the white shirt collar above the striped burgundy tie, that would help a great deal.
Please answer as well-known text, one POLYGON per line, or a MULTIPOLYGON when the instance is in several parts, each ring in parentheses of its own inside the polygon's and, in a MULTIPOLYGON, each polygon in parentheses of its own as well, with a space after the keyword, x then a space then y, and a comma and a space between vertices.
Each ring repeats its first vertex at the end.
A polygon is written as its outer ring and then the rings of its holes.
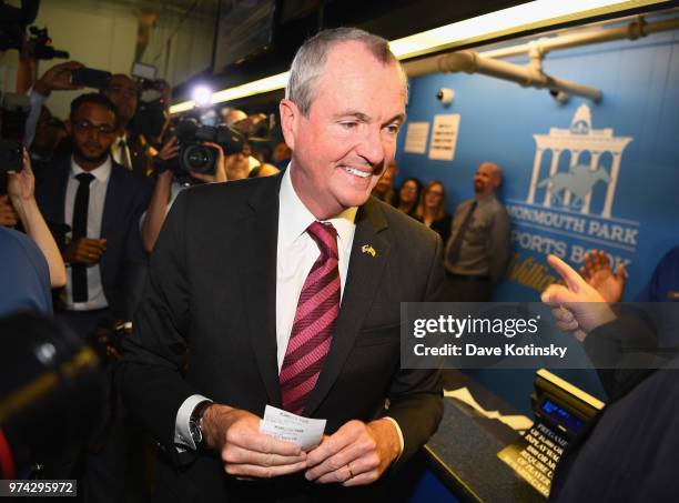
MULTIPOLYGON (((283 174, 281 192, 278 194, 278 240, 284 245, 292 244, 316 220, 295 192, 290 175, 293 169, 291 162, 283 174)), ((346 248, 352 242, 357 211, 357 208, 348 208, 332 219, 323 220, 323 222, 332 223, 337 231, 337 244, 340 247, 346 248)))

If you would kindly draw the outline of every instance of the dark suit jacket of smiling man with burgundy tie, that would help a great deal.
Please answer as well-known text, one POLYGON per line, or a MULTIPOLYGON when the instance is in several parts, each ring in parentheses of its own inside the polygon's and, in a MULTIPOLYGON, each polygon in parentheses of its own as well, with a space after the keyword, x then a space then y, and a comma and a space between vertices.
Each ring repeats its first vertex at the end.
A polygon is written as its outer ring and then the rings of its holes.
MULTIPOLYGON (((175 465, 159 466, 159 501, 171 495, 240 501, 255 494, 265 501, 313 500, 316 485, 302 475, 241 482, 225 475, 217 454, 182 460, 173 445, 176 412, 194 393, 259 416, 266 404, 281 406, 275 312, 281 180, 185 190, 151 256, 119 383, 128 409, 175 465)), ((332 346, 304 411, 327 419, 328 434, 352 419, 388 414, 405 439, 399 463, 435 432, 443 413, 439 372, 399 369, 399 302, 435 299, 442 248, 436 233, 375 199, 359 209, 332 346), (376 256, 362 252, 365 244, 376 256)), ((346 499, 337 486, 326 492, 333 491, 346 499)))

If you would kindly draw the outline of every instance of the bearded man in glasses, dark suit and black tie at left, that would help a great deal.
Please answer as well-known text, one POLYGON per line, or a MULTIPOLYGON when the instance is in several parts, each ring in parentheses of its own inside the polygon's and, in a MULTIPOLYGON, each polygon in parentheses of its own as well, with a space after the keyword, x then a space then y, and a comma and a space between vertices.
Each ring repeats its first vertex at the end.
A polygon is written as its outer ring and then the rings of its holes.
POLYGON ((150 187, 112 161, 116 123, 104 95, 73 100, 67 122, 73 154, 47 170, 37 191, 45 220, 70 227, 58 237, 68 280, 55 311, 83 338, 107 316, 131 320, 146 261, 139 218, 150 187))

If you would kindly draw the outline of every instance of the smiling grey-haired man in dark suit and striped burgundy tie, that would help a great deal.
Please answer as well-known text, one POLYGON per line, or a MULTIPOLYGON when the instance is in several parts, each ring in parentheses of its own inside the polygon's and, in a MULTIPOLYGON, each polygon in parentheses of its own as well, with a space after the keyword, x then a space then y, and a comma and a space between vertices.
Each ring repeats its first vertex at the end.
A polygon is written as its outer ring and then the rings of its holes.
POLYGON ((405 102, 384 39, 323 31, 281 102, 285 173, 176 199, 119 372, 165 454, 158 501, 375 501, 436 430, 440 375, 401 369, 399 303, 436 299, 443 243, 369 195, 405 102), (326 436, 262 434, 267 404, 326 436))

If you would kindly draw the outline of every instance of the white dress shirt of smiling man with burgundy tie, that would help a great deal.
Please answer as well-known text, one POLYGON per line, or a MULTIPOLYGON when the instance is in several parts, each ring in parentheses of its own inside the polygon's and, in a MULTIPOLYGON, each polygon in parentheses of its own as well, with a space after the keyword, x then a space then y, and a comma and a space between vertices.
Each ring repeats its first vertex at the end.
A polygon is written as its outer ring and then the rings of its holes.
MULTIPOLYGON (((276 248, 276 356, 278 361, 278 372, 283 366, 285 351, 290 341, 292 325, 297 310, 297 301, 304 286, 304 281, 311 272, 314 262, 318 259, 321 251, 314 239, 306 232, 306 229, 316 219, 300 200, 292 184, 291 170, 292 163, 285 170, 281 181, 278 193, 278 243, 276 248)), ((340 255, 340 299, 344 294, 344 284, 348 271, 348 262, 354 242, 356 230, 357 208, 349 208, 337 217, 324 220, 324 223, 332 223, 337 231, 337 252, 340 255)), ((206 399, 195 394, 182 403, 178 411, 175 422, 174 442, 195 449, 189 429, 189 419, 195 406, 206 399)), ((403 434, 401 427, 393 419, 388 418, 396 430, 401 440, 403 451, 403 434)), ((181 447, 178 447, 181 451, 181 447)))

